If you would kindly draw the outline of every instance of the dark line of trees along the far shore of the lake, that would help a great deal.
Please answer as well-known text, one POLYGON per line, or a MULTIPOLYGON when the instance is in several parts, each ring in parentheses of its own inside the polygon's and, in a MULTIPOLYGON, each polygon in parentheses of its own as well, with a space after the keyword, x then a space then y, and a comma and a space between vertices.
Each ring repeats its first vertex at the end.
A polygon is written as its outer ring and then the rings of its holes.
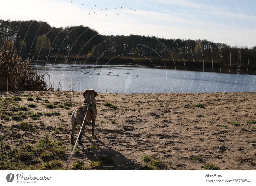
POLYGON ((0 40, 12 41, 23 58, 256 69, 256 46, 239 49, 207 40, 100 35, 82 25, 57 28, 41 21, 0 20, 0 40))

